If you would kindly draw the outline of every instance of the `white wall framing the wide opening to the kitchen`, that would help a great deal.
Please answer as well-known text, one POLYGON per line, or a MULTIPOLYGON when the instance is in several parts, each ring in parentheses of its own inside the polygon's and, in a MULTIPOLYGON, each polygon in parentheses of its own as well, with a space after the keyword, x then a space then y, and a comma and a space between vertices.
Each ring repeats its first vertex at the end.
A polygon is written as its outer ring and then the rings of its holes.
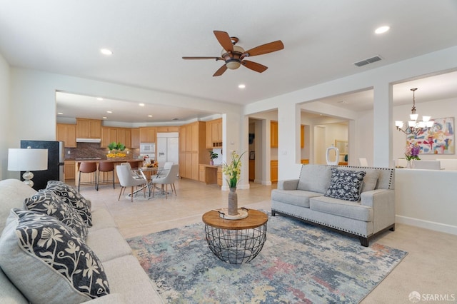
MULTIPOLYGON (((1 67, 0 69, 0 73, 5 71, 1 67)), ((168 106, 183 106, 184 104, 186 108, 206 109, 210 113, 224 113, 224 142, 229 144, 224 146, 223 160, 225 161, 229 154, 227 151, 247 149, 247 139, 245 143, 241 137, 241 134, 247 132, 247 125, 246 128, 243 125, 240 126, 241 106, 236 104, 21 68, 11 68, 9 81, 7 77, 1 81, 2 86, 5 83, 9 83, 11 88, 10 96, 6 98, 9 100, 6 104, 11 105, 9 113, 6 114, 10 123, 8 128, 1 128, 0 134, 2 138, 8 136, 9 140, 6 141, 6 146, 9 148, 18 148, 21 139, 55 140, 55 93, 56 91, 66 91, 90 96, 106 96, 119 100, 161 103, 168 106), (225 123, 229 123, 231 127, 227 128, 225 123)), ((2 93, 0 92, 0 94, 2 93)), ((6 93, 3 95, 6 96, 6 93)), ((7 150, 0 151, 0 153, 1 163, 6 162, 7 150)), ((8 173, 5 167, 2 168, 1 174, 3 178, 6 176, 19 177, 19 173, 8 173)))

